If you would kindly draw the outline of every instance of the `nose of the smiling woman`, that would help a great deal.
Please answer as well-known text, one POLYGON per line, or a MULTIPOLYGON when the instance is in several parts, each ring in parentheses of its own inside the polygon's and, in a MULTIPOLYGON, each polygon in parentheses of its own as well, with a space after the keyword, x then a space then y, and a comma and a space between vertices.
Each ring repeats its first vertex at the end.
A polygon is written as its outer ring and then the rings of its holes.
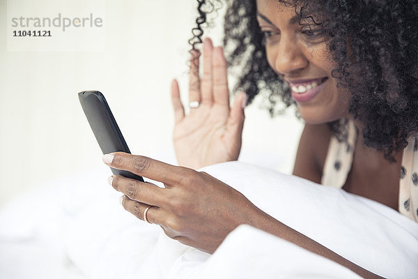
POLYGON ((309 60, 304 55, 296 40, 289 36, 281 36, 280 41, 271 46, 274 70, 281 75, 292 75, 300 72, 309 65, 309 60))

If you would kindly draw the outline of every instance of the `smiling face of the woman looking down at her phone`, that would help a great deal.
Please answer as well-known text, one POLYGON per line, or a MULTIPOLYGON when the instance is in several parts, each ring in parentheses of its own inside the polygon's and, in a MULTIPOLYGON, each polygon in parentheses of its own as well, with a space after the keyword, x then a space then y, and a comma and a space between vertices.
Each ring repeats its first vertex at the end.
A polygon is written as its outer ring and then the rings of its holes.
POLYGON ((346 116, 350 94, 336 88, 331 75, 335 65, 327 59, 320 29, 311 20, 300 22, 292 6, 276 0, 256 2, 268 63, 289 84, 302 118, 326 123, 346 116))

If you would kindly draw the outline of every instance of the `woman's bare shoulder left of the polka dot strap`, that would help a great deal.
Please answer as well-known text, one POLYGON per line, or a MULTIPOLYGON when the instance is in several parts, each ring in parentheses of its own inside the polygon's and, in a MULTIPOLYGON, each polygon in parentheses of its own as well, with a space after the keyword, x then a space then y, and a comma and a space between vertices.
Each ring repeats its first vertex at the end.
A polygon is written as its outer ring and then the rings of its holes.
POLYGON ((332 132, 327 123, 305 124, 293 174, 320 183, 332 132))

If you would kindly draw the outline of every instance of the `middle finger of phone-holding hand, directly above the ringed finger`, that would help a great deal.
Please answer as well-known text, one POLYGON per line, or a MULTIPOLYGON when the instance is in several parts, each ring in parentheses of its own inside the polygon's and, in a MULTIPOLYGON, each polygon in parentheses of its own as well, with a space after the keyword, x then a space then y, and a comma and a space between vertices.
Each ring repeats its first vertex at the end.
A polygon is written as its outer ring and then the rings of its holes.
POLYGON ((109 184, 115 190, 127 195, 130 199, 144 204, 160 206, 162 204, 162 188, 152 183, 144 183, 135 179, 128 179, 120 175, 109 177, 109 184))

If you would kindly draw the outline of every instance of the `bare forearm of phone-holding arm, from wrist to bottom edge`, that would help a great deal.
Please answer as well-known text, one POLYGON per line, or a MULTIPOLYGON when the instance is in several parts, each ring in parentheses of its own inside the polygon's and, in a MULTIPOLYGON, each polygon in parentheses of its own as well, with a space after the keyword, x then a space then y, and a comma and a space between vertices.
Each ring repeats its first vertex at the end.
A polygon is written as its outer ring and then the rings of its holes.
POLYGON ((316 253, 322 257, 326 257, 327 259, 331 259, 332 261, 345 266, 346 268, 350 269, 351 271, 357 273, 359 276, 363 278, 382 278, 375 273, 367 271, 357 264, 353 264, 348 259, 341 257, 340 255, 336 254, 332 250, 322 246, 320 243, 309 239, 309 237, 301 234, 300 232, 295 231, 291 227, 280 223, 278 220, 272 218, 267 213, 263 211, 259 211, 256 213, 256 218, 253 218, 254 223, 249 224, 257 227, 258 229, 263 229, 263 231, 268 232, 270 234, 274 234, 279 236, 281 239, 285 239, 286 241, 290 241, 295 243, 297 246, 300 246, 306 250, 316 253))

